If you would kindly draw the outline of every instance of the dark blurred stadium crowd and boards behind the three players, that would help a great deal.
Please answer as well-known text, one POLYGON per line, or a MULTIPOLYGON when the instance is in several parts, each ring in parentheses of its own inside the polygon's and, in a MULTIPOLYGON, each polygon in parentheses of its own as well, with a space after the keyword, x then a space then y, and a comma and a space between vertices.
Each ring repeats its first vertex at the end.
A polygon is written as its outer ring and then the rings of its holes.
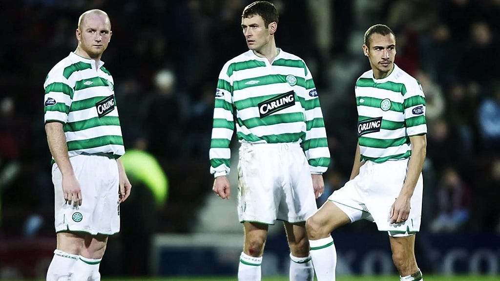
MULTIPOLYGON (((244 52, 248 0, 15 0, 0 3, 0 278, 42 278, 55 247, 43 81, 76 47, 77 18, 100 8, 133 189, 121 205, 103 278, 228 276, 242 245, 233 195, 211 193, 208 147, 218 73, 244 52), (134 150, 132 150, 134 149, 134 150), (141 163, 134 166, 134 163, 141 163), (144 171, 145 170, 145 171, 144 171)), ((426 95, 424 200, 416 255, 424 274, 500 274, 500 0, 274 0, 277 46, 305 60, 320 96, 332 163, 322 204, 350 174, 354 82, 369 69, 364 31, 396 33, 396 64, 426 95)), ((237 143, 230 174, 235 194, 237 143)), ((372 223, 333 232, 337 273, 395 274, 372 223)), ((264 276, 287 275, 281 225, 264 276)), ((397 278, 393 277, 392 279, 397 278)), ((476 277, 471 277, 476 279, 476 277)), ((382 279, 380 279, 382 280, 382 279)), ((427 277, 426 277, 427 280, 427 277)))

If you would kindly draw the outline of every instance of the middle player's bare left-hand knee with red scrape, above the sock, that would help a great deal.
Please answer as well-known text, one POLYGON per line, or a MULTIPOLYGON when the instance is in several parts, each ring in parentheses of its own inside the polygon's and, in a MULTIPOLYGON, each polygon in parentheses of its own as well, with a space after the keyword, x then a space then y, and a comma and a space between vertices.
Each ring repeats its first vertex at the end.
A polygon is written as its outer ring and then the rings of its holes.
POLYGON ((264 223, 251 221, 243 222, 244 245, 243 251, 250 256, 262 256, 265 239, 269 226, 264 223))

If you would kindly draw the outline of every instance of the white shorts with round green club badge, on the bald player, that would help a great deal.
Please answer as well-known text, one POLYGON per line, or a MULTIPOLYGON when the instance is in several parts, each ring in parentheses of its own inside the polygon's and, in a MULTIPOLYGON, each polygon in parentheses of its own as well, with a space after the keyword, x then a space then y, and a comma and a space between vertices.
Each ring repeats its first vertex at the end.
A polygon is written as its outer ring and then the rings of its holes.
POLYGON ((120 230, 118 166, 106 156, 79 154, 69 158, 80 183, 82 204, 68 205, 62 194, 62 175, 52 165, 55 194, 55 232, 81 231, 92 235, 120 230))

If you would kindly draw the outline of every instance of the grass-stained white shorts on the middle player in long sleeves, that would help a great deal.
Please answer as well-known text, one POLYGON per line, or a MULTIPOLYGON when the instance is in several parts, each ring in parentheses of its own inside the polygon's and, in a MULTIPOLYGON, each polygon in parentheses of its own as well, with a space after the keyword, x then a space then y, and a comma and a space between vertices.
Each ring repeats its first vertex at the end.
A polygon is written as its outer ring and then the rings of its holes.
POLYGON ((241 143, 238 218, 274 224, 305 221, 316 210, 309 164, 298 143, 241 143))

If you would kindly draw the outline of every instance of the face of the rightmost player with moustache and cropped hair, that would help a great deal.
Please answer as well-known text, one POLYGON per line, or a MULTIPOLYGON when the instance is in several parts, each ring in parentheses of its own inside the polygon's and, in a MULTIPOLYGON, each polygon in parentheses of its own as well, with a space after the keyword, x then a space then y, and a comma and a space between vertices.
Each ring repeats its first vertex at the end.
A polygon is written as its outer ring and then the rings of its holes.
POLYGON ((373 75, 377 79, 386 77, 394 66, 396 56, 396 39, 394 35, 371 34, 370 46, 363 45, 364 55, 370 61, 373 75))

